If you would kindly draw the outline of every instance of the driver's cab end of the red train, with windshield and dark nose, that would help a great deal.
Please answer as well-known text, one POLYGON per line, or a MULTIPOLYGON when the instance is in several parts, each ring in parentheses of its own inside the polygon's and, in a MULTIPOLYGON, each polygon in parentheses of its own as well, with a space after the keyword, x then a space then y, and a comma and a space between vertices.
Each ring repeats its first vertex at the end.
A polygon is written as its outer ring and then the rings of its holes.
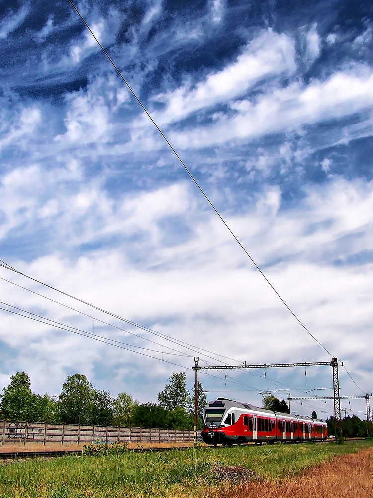
POLYGON ((210 401, 203 409, 203 429, 201 432, 202 439, 207 444, 228 444, 232 445, 237 442, 234 433, 234 417, 232 409, 237 405, 230 399, 218 398, 210 401), (233 417, 233 420, 232 420, 233 417))

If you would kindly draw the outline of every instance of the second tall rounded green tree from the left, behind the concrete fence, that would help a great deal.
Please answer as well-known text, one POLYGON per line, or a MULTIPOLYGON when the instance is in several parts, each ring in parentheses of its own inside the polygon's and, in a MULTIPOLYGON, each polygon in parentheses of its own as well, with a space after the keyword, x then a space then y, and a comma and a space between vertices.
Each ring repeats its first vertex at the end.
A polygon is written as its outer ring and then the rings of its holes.
POLYGON ((94 389, 85 375, 69 375, 62 384, 61 421, 67 424, 89 424, 93 414, 94 389))

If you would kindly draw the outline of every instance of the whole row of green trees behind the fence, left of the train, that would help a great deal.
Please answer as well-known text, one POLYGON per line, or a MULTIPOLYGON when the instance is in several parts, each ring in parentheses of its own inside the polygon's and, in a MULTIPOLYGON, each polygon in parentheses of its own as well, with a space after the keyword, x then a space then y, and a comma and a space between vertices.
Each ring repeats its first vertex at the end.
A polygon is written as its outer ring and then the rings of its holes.
MULTIPOLYGON (((202 411, 207 403, 198 382, 198 428, 202 428, 202 411)), ((151 427, 158 429, 194 428, 194 388, 187 390, 186 375, 173 373, 169 383, 158 393, 157 403, 142 403, 126 392, 116 397, 95 389, 86 375, 69 375, 58 396, 41 396, 31 391, 30 377, 17 372, 3 389, 0 419, 80 425, 151 427)))

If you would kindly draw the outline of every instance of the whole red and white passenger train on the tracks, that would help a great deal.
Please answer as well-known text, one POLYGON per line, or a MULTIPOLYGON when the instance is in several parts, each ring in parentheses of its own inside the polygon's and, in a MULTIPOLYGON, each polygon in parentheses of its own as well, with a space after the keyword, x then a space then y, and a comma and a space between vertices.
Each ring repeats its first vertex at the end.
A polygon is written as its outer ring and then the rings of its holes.
POLYGON ((227 398, 209 401, 203 409, 203 442, 217 446, 281 441, 325 441, 328 426, 320 418, 289 415, 227 398))

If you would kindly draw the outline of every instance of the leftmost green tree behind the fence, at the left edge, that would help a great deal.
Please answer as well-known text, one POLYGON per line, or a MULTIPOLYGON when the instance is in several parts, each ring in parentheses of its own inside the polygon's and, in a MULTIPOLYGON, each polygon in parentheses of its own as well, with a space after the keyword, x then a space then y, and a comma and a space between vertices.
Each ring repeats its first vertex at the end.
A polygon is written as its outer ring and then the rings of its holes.
POLYGON ((17 371, 12 375, 10 384, 4 387, 3 392, 0 405, 2 418, 37 421, 37 399, 31 392, 30 377, 26 372, 17 371))

